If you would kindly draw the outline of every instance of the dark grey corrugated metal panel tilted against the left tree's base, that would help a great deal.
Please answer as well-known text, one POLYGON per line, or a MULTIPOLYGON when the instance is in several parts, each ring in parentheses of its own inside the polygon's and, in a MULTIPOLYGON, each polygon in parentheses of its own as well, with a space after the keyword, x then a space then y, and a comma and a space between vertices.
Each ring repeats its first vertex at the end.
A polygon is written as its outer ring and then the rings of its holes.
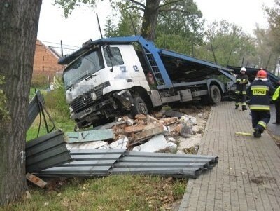
POLYGON ((26 155, 26 168, 30 173, 73 161, 66 148, 64 132, 60 130, 27 142, 26 155))

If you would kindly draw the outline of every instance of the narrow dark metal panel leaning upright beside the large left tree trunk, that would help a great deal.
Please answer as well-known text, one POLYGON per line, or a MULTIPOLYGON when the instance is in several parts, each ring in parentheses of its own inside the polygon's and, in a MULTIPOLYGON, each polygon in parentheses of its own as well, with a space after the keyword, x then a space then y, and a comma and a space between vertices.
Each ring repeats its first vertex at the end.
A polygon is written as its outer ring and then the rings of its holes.
MULTIPOLYGON (((44 103, 43 95, 41 95, 39 90, 36 90, 37 96, 40 98, 41 102, 44 103)), ((30 128, 32 123, 34 122, 36 116, 38 116, 40 112, 40 107, 38 105, 37 97, 34 96, 28 105, 27 109, 27 128, 30 128)))

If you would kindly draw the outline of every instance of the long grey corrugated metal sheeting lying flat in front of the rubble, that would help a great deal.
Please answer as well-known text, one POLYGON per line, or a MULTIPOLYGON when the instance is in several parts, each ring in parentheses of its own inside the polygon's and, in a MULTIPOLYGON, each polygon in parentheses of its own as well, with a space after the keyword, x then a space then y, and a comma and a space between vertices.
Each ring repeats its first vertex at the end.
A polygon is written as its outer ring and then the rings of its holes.
POLYGON ((164 154, 124 149, 71 149, 77 159, 39 172, 43 176, 162 175, 195 178, 213 168, 217 156, 164 154))

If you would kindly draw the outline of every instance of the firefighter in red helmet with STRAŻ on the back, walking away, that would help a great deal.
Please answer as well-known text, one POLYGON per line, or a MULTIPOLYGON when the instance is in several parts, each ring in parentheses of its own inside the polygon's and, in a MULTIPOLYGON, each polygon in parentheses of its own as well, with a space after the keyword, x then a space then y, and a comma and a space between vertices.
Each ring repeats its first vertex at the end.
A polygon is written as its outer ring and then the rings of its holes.
POLYGON ((272 83, 267 80, 267 72, 260 69, 246 94, 250 97, 253 136, 261 137, 270 120, 270 96, 274 93, 272 83))

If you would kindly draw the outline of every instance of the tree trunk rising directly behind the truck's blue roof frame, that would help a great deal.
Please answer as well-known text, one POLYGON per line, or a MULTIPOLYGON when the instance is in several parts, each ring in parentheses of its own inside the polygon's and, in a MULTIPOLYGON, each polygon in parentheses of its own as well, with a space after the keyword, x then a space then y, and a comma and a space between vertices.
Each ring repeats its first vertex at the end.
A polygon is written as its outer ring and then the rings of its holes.
POLYGON ((160 0, 146 0, 141 36, 148 41, 153 41, 155 39, 155 28, 157 27, 159 6, 160 0))

